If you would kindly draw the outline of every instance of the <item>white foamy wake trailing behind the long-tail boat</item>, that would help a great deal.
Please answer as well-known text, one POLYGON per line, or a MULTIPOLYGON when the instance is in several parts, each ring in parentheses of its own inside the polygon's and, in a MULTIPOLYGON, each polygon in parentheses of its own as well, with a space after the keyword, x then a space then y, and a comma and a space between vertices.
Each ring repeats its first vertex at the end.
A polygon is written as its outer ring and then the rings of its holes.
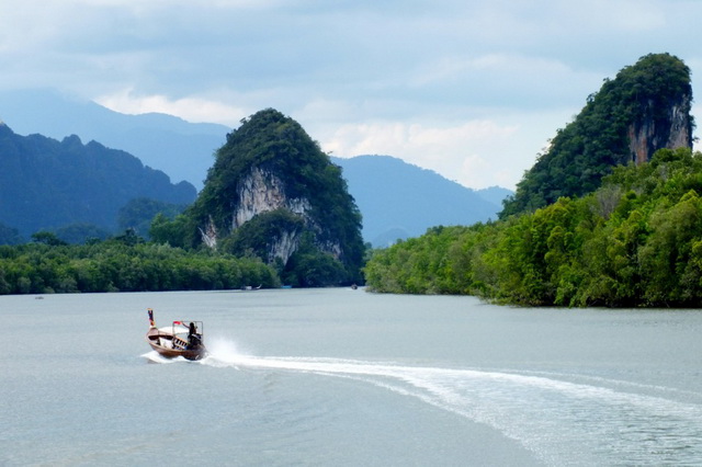
MULTIPOLYGON (((227 341, 196 364, 352 378, 484 423, 548 465, 701 465, 702 409, 673 389, 580 375, 403 366, 240 354, 227 341), (574 460, 577 459, 577 460, 574 460)), ((145 357, 169 361, 155 352, 145 357)))

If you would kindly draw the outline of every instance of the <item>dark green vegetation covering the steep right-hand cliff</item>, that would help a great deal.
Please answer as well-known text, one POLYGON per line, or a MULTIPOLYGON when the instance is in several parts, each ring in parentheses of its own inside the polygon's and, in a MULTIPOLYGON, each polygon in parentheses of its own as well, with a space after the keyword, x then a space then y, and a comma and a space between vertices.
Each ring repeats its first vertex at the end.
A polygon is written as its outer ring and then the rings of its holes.
POLYGON ((633 161, 630 138, 642 128, 655 130, 645 148, 653 155, 666 147, 671 118, 682 116, 679 129, 687 132, 686 144, 691 147, 693 122, 687 118, 691 99, 690 70, 669 54, 650 54, 625 67, 557 132, 505 203, 500 218, 533 212, 562 196, 593 192, 614 167, 633 161), (678 110, 676 115, 670 115, 671 109, 678 110))

